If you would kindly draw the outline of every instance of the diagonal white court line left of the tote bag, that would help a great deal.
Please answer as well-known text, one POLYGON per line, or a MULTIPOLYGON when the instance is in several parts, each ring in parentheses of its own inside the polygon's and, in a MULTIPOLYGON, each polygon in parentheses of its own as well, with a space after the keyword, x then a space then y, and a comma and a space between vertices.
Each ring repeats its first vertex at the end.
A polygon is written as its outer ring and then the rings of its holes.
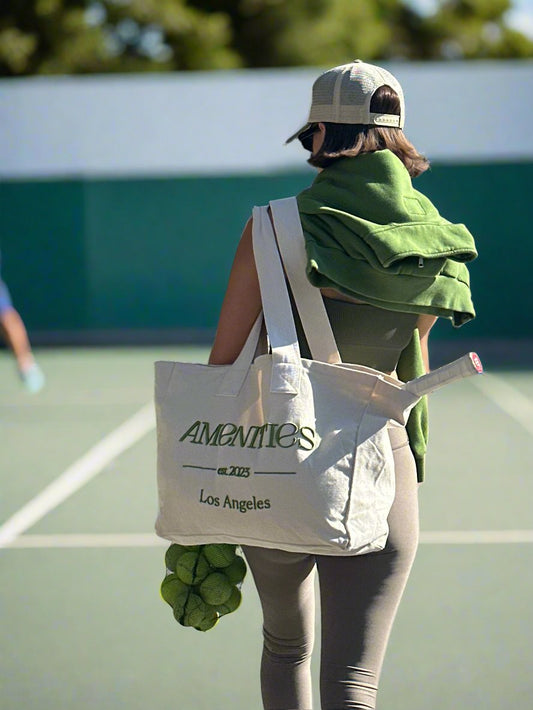
POLYGON ((19 535, 82 488, 154 427, 154 407, 150 402, 89 449, 35 498, 6 520, 0 526, 0 548, 12 545, 19 535))

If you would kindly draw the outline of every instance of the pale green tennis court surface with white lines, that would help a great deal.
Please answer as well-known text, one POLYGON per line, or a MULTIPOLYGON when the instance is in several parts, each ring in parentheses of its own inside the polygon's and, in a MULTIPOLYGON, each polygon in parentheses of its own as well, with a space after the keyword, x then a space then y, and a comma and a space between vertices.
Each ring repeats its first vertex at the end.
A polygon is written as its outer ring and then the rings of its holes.
MULTIPOLYGON (((205 634, 158 592, 152 363, 205 349, 38 355, 48 384, 31 396, 0 352, 1 710, 259 710, 250 580, 205 634)), ((531 371, 432 396, 422 540, 382 710, 531 709, 532 415, 531 371)))

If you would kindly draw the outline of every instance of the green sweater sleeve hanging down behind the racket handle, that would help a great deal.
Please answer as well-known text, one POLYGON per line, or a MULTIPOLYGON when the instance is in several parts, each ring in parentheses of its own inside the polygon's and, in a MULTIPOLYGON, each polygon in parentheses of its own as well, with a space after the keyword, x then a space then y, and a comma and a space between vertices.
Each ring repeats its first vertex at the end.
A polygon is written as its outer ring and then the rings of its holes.
MULTIPOLYGON (((417 328, 413 332, 409 345, 400 355, 396 371, 403 382, 425 374, 422 350, 420 348, 420 336, 417 328)), ((409 446, 415 457, 417 478, 419 483, 421 483, 425 476, 425 457, 429 436, 427 396, 422 397, 411 410, 406 429, 409 437, 409 446)))

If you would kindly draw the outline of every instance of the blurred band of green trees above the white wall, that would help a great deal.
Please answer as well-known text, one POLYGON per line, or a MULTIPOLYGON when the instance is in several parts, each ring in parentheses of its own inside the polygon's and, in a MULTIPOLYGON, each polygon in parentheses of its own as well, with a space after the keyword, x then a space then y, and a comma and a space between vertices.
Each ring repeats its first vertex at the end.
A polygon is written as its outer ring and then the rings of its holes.
POLYGON ((0 75, 533 56, 510 0, 4 0, 0 75))

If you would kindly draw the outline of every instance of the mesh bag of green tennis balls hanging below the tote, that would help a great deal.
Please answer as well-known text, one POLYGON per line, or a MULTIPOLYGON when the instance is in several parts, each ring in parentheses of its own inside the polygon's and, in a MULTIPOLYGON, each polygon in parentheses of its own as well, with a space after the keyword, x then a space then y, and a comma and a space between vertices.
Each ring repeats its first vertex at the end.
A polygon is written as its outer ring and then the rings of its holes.
POLYGON ((178 545, 165 553, 160 594, 181 626, 212 629, 220 617, 239 608, 246 562, 237 545, 178 545))

